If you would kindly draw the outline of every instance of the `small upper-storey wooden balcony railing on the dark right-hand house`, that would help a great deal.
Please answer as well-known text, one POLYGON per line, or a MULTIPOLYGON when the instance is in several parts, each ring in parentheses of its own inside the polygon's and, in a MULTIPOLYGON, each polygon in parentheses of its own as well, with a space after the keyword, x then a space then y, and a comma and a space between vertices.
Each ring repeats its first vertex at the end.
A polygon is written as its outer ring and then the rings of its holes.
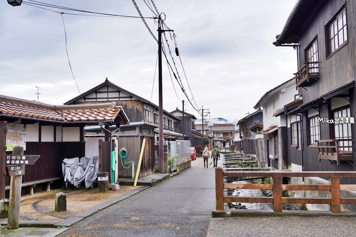
POLYGON ((309 86, 313 83, 310 79, 319 79, 319 62, 306 62, 295 75, 295 86, 309 86))

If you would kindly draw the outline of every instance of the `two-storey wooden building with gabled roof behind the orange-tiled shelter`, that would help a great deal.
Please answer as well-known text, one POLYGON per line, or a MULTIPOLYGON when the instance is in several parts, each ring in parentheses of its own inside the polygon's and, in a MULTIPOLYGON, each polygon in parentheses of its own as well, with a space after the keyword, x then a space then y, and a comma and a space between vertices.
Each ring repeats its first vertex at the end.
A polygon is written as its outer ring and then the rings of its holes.
MULTIPOLYGON (((146 138, 146 147, 140 169, 140 177, 147 176, 155 172, 155 144, 158 145, 158 106, 140 96, 129 92, 106 79, 103 83, 71 99, 65 104, 92 104, 115 102, 122 106, 125 113, 130 118, 130 123, 120 127, 115 132, 119 136, 117 146, 119 150, 125 147, 128 152, 127 161, 138 163, 140 156, 142 139, 146 138), (131 119, 132 118, 132 119, 131 119)), ((186 118, 187 119, 187 118, 186 118)), ((187 119, 188 120, 188 119, 187 119)), ((179 132, 181 119, 163 110, 163 135, 165 141, 175 141, 182 139, 179 132)), ((188 124, 189 125, 189 124, 188 124)), ((111 131, 116 126, 108 127, 111 131)), ((85 129, 86 135, 100 135, 103 130, 98 126, 85 129)), ((106 134, 105 139, 108 139, 106 134)), ((119 177, 131 177, 131 169, 125 169, 119 164, 119 177)))

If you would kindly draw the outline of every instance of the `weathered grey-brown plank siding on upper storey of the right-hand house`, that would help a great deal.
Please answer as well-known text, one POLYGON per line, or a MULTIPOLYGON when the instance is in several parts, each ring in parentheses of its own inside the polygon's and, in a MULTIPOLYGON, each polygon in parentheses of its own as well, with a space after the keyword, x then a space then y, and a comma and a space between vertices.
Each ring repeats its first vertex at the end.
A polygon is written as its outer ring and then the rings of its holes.
POLYGON ((319 9, 311 23, 305 28, 304 33, 299 37, 300 66, 303 66, 305 62, 305 49, 316 36, 318 37, 319 82, 315 81, 310 85, 308 91, 301 88, 303 103, 355 80, 356 1, 346 0, 347 44, 338 49, 329 58, 326 54, 328 42, 326 41, 324 26, 344 4, 345 0, 326 1, 325 5, 319 9))

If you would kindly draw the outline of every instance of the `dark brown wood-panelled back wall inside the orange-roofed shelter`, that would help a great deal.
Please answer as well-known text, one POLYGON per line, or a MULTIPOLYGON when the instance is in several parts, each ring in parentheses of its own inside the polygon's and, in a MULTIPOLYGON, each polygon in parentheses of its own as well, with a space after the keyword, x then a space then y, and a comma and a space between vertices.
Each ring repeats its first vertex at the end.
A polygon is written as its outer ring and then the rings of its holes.
MULTIPOLYGON (((22 183, 41 179, 62 177, 64 158, 83 157, 84 142, 26 142, 25 155, 40 155, 35 165, 26 166, 22 183)), ((10 176, 6 176, 6 185, 10 185, 10 176)))

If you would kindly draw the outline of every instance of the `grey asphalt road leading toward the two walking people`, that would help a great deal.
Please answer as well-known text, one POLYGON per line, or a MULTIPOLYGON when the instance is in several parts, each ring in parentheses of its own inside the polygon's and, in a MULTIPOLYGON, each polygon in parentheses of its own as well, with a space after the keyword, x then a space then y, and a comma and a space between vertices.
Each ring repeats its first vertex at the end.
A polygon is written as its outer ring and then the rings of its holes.
POLYGON ((197 158, 177 176, 78 222, 59 236, 206 236, 215 169, 197 158))

